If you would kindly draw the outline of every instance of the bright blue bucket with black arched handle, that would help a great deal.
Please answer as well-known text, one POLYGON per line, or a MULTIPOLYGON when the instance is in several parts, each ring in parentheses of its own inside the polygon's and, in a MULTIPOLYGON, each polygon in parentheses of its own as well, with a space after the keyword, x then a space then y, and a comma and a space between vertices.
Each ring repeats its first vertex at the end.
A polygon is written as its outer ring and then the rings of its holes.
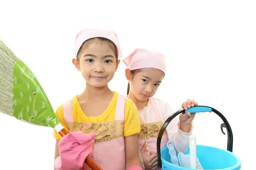
MULTIPOLYGON (((160 129, 159 135, 157 137, 157 158, 158 166, 163 170, 191 170, 190 168, 180 167, 171 163, 171 158, 169 156, 168 147, 164 147, 160 150, 160 142, 163 136, 164 131, 166 130, 167 125, 172 121, 175 116, 180 113, 200 113, 200 112, 214 112, 221 117, 224 124, 222 127, 227 128, 228 142, 227 142, 227 150, 223 150, 216 147, 209 147, 204 145, 196 145, 196 154, 199 159, 204 170, 240 170, 241 169, 241 160, 238 156, 236 156, 233 150, 233 133, 227 119, 214 108, 210 108, 207 106, 195 106, 193 108, 189 108, 188 110, 184 110, 181 108, 180 110, 173 113, 167 120, 164 122, 163 126, 160 129)), ((223 132, 223 130, 221 129, 223 132)), ((224 132, 223 132, 224 133, 224 132)), ((189 149, 187 150, 185 155, 189 153, 189 149)), ((177 154, 178 156, 178 154, 177 154)))

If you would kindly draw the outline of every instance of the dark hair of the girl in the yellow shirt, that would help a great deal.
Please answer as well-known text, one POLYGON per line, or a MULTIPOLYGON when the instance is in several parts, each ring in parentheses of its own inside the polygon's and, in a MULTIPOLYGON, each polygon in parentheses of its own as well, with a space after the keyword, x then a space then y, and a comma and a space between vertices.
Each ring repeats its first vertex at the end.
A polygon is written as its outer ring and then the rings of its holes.
POLYGON ((77 61, 79 61, 79 55, 83 52, 83 49, 86 47, 86 45, 89 45, 90 43, 95 42, 94 40, 99 40, 99 42, 101 43, 107 43, 108 45, 110 45, 113 48, 113 51, 116 57, 116 62, 117 62, 118 51, 117 51, 116 45, 111 40, 108 40, 107 38, 103 38, 103 37, 90 38, 84 41, 81 47, 79 48, 79 51, 77 52, 77 56, 76 56, 77 61))

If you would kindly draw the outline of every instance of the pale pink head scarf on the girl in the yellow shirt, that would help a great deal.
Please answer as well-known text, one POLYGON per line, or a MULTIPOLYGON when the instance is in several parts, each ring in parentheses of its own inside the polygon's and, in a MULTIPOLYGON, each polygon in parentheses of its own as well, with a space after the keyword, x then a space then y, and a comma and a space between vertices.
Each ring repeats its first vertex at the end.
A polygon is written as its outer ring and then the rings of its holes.
POLYGON ((118 58, 122 57, 122 51, 121 51, 116 33, 114 31, 104 29, 104 28, 87 28, 87 29, 81 30, 76 36, 76 42, 75 42, 76 56, 79 51, 79 48, 84 43, 84 41, 90 38, 95 38, 95 37, 103 37, 103 38, 107 38, 108 40, 111 40, 116 45, 118 58))

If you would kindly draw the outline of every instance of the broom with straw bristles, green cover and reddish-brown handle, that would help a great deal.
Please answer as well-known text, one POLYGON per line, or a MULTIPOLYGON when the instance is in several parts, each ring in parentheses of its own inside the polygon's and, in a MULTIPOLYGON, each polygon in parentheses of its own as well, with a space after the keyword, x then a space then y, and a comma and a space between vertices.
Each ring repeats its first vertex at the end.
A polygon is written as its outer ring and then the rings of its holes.
MULTIPOLYGON (((52 127, 62 137, 67 131, 35 75, 0 39, 0 112, 33 125, 52 127)), ((102 168, 87 156, 92 170, 102 168)))

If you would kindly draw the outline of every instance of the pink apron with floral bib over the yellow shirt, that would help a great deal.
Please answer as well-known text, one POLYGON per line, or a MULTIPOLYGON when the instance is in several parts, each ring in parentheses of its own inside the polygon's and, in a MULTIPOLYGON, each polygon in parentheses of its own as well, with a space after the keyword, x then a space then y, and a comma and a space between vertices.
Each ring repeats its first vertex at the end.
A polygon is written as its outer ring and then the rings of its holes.
MULTIPOLYGON (((71 132, 96 133, 90 156, 104 170, 125 170, 125 97, 118 94, 115 120, 99 123, 74 122, 72 100, 63 105, 63 116, 71 132)), ((81 170, 90 170, 87 164, 81 170)))

